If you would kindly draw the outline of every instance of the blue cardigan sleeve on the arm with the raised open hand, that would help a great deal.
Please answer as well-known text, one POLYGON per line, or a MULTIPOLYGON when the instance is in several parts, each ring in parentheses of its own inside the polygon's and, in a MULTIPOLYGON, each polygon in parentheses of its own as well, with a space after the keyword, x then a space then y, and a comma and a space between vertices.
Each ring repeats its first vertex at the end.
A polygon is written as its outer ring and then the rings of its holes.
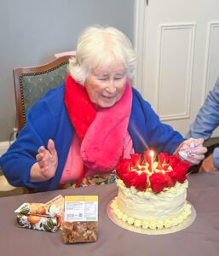
POLYGON ((38 101, 26 115, 26 126, 16 141, 0 158, 3 173, 13 186, 38 188, 39 183, 30 183, 30 171, 36 162, 37 149, 45 146, 55 135, 55 118, 44 100, 38 101), (49 124, 49 129, 46 127, 49 124))

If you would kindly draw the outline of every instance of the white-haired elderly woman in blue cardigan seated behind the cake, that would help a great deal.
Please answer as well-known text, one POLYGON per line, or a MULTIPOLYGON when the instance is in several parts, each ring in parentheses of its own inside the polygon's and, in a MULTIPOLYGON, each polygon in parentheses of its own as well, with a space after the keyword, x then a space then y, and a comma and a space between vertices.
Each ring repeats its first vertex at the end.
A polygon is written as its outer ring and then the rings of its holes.
MULTIPOLYGON (((87 28, 78 38, 65 84, 29 110, 26 126, 1 158, 9 183, 41 191, 68 183, 78 187, 106 181, 122 157, 147 148, 169 154, 189 148, 191 139, 162 124, 130 86, 135 60, 122 32, 87 28)), ((181 155, 198 164, 206 151, 202 142, 181 155)))

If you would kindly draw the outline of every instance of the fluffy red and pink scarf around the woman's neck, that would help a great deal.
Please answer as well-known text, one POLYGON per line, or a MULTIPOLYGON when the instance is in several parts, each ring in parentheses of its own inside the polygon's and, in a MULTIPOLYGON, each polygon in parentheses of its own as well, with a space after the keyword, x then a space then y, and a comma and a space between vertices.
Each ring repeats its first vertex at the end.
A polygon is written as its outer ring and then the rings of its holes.
POLYGON ((111 108, 96 111, 85 87, 68 75, 64 100, 72 125, 82 143, 84 168, 78 186, 87 167, 97 172, 110 172, 118 164, 123 154, 124 137, 130 119, 132 91, 127 83, 124 95, 118 102, 111 108))

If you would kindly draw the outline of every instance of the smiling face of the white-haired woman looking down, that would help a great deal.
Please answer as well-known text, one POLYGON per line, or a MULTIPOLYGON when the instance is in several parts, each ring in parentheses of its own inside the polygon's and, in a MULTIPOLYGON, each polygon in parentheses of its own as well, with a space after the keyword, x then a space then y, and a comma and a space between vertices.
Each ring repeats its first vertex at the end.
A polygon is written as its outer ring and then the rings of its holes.
POLYGON ((123 96, 126 81, 126 68, 115 62, 108 67, 93 68, 84 86, 91 102, 101 108, 110 108, 123 96))

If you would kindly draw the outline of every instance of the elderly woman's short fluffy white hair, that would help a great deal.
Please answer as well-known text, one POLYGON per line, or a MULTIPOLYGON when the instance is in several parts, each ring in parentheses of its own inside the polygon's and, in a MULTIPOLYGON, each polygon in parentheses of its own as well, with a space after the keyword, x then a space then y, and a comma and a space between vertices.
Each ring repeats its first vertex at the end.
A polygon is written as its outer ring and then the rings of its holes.
POLYGON ((78 38, 76 55, 69 60, 68 70, 72 78, 83 84, 95 67, 108 67, 121 62, 128 79, 135 72, 136 55, 123 32, 114 27, 89 26, 78 38))

